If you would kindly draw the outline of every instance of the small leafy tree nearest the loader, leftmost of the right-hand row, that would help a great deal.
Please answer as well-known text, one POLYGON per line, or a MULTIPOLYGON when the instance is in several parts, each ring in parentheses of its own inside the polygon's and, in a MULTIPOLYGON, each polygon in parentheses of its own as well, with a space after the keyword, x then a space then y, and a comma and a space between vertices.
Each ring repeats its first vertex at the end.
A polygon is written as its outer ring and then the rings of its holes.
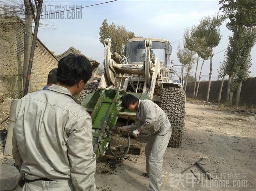
POLYGON ((185 41, 183 42, 184 46, 181 47, 180 43, 177 48, 177 57, 181 64, 184 64, 186 67, 186 83, 184 87, 184 91, 186 92, 186 86, 188 82, 188 76, 191 72, 191 65, 194 63, 194 53, 193 51, 190 51, 188 48, 185 47, 185 41))

